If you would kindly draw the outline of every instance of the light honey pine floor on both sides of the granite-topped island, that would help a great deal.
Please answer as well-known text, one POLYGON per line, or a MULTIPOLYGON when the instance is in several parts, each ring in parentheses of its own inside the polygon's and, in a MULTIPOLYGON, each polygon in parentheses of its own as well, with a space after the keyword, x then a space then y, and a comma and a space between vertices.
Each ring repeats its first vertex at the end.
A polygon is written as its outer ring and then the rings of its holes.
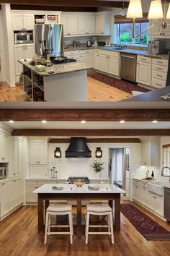
MULTIPOLYGON (((121 101, 130 98, 129 93, 88 77, 88 101, 121 101)), ((9 88, 6 82, 0 84, 0 101, 30 101, 22 85, 9 88)))

